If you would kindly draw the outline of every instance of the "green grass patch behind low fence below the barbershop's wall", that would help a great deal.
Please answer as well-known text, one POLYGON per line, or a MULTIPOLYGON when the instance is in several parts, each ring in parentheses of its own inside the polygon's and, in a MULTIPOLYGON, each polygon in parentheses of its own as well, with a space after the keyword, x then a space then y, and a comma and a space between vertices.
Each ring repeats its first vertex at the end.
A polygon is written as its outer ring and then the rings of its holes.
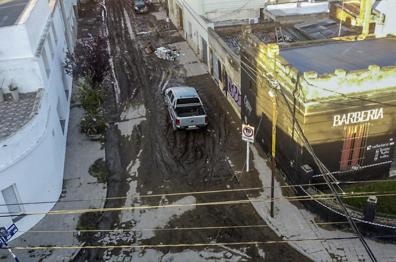
MULTIPOLYGON (((393 181, 383 181, 383 182, 369 182, 369 183, 361 183, 350 186, 341 187, 344 192, 384 192, 384 193, 373 193, 373 194, 364 194, 364 197, 343 197, 341 194, 341 190, 337 190, 340 194, 340 197, 343 200, 343 203, 346 205, 350 205, 352 207, 357 207, 360 209, 366 208, 367 198, 368 196, 377 196, 377 212, 388 214, 388 215, 396 215, 396 206, 390 203, 396 203, 396 196, 381 196, 381 194, 387 194, 385 192, 396 191, 396 180, 393 181)), ((326 190, 326 194, 330 193, 330 190, 326 190)), ((389 193, 394 194, 394 193, 389 193)))

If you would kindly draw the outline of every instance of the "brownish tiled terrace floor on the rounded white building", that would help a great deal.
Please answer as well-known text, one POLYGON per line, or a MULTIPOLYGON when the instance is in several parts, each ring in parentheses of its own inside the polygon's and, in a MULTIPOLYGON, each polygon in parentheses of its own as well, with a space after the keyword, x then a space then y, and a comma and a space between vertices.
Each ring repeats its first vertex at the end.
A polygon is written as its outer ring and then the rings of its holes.
POLYGON ((0 140, 12 135, 33 118, 36 96, 37 92, 20 93, 19 100, 13 101, 10 93, 4 94, 4 102, 0 103, 0 140))

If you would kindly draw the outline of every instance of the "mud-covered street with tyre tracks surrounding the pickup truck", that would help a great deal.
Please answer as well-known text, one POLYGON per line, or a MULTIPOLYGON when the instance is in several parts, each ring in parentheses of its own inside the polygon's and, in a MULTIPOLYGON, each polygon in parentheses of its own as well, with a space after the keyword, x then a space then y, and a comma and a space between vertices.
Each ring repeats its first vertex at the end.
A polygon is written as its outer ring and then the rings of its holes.
MULTIPOLYGON (((189 246, 282 239, 266 226, 230 228, 265 225, 250 203, 186 205, 247 199, 243 191, 191 192, 261 184, 254 166, 236 184, 234 174, 241 175, 246 159, 246 144, 238 130, 241 122, 209 74, 188 77, 177 60, 160 60, 145 52, 147 44, 168 46, 160 4, 152 4, 147 14, 135 14, 130 0, 106 1, 105 5, 108 30, 102 26, 90 32, 108 34, 116 77, 105 84, 110 123, 105 146, 111 170, 107 197, 128 197, 108 200, 105 207, 164 207, 109 211, 99 229, 140 231, 91 234, 86 245, 186 246, 87 249, 74 261, 310 261, 287 243, 189 246), (164 85, 197 88, 209 116, 208 129, 173 131, 160 94, 164 85), (220 226, 226 228, 208 228, 220 226)), ((99 5, 84 9, 84 19, 101 20, 99 5)), ((79 27, 84 32, 89 25, 79 27)), ((171 41, 182 42, 177 30, 171 29, 171 41)))

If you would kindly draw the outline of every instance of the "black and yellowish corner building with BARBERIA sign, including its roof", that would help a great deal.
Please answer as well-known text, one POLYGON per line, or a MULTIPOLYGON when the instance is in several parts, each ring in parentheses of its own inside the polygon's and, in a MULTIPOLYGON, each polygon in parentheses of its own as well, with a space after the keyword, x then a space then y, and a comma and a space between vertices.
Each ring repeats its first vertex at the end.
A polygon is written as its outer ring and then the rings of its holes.
POLYGON ((270 152, 276 117, 276 161, 291 183, 322 179, 297 125, 339 180, 395 172, 396 38, 369 34, 267 45, 247 28, 240 43, 242 121, 256 127, 255 142, 270 152))

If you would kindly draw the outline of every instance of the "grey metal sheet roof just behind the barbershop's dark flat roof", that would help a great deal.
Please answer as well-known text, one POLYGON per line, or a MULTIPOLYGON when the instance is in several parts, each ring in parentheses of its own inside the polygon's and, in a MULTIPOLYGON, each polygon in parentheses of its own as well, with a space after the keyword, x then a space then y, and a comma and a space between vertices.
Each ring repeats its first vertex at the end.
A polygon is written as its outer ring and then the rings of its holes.
MULTIPOLYGON (((328 18, 318 22, 298 25, 295 27, 303 31, 305 34, 308 34, 313 39, 326 39, 338 36, 340 23, 328 18)), ((355 34, 356 33, 350 30, 348 27, 341 25, 340 36, 353 36, 355 34)))

